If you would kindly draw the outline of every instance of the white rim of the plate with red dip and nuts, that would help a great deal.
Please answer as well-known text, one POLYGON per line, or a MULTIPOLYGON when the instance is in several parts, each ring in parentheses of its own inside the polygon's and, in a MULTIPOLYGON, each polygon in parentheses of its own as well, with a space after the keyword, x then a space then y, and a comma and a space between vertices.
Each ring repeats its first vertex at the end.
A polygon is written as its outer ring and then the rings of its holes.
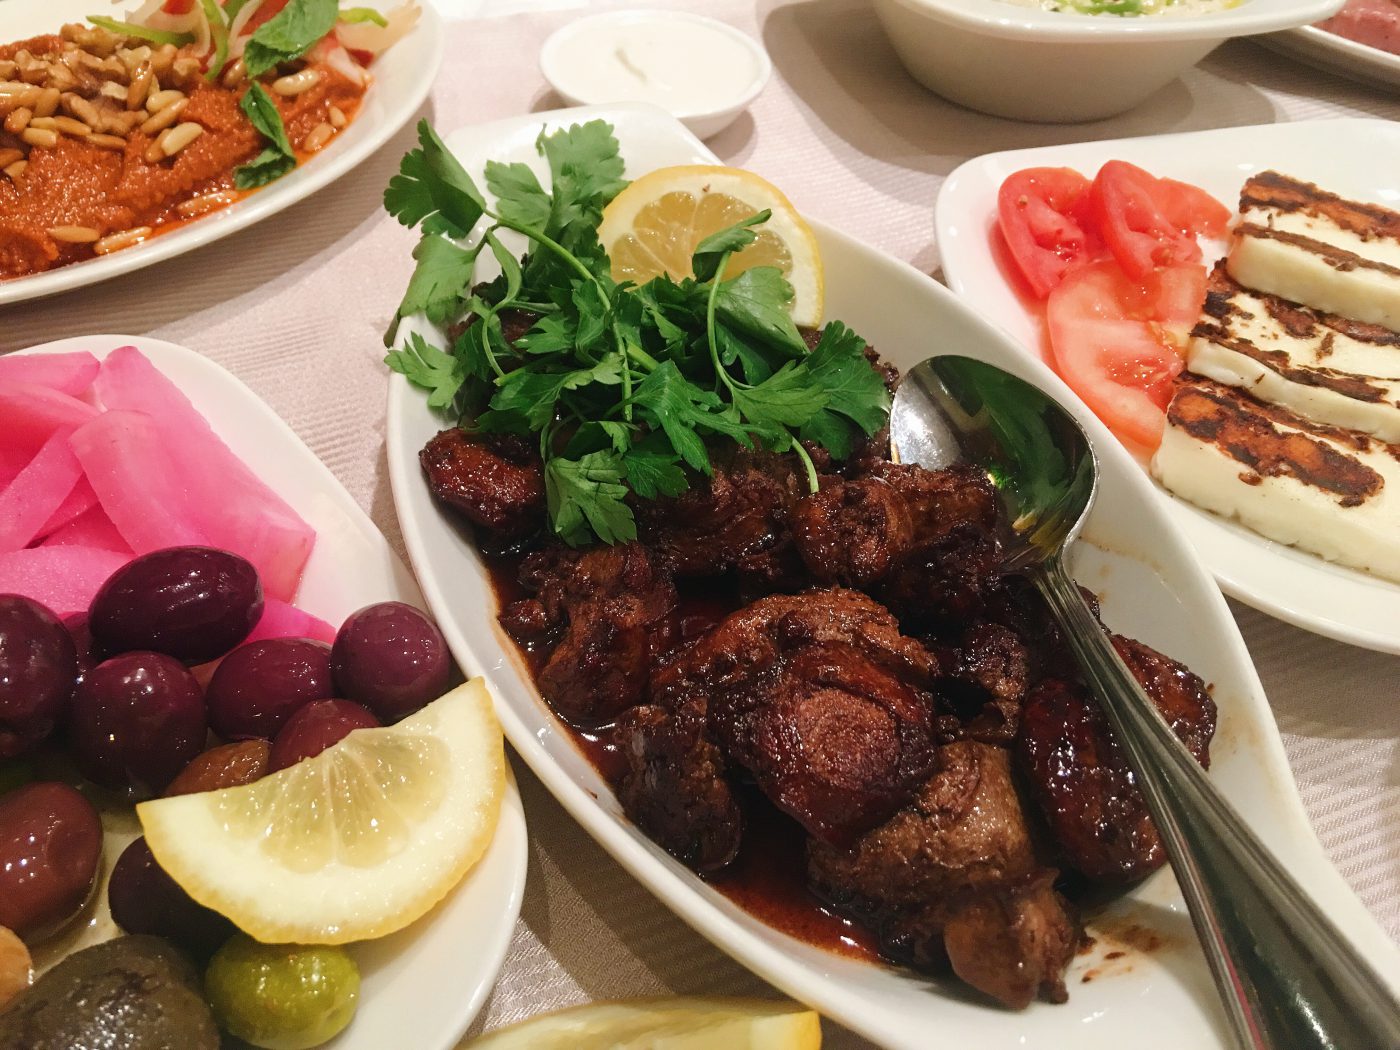
MULTIPOLYGON (((0 3, 4 3, 4 0, 0 0, 0 3)), ((368 3, 382 6, 381 0, 368 0, 368 3)), ((276 216, 293 204, 300 204, 302 200, 315 196, 332 182, 358 168, 378 153, 389 139, 398 134, 423 106, 442 66, 442 57, 447 50, 442 17, 438 14, 433 0, 419 0, 419 10, 421 14, 417 24, 403 39, 393 45, 399 48, 405 43, 416 43, 423 49, 423 60, 414 63, 417 73, 412 85, 402 95, 396 95, 392 99, 381 98, 379 101, 385 101, 388 105, 386 119, 371 126, 363 137, 351 140, 342 153, 329 157, 325 154, 314 155, 300 164, 291 174, 305 174, 300 176, 298 182, 290 190, 283 189, 277 192, 279 182, 272 182, 249 193, 246 197, 235 200, 228 207, 209 216, 200 216, 188 225, 160 234, 150 241, 133 245, 120 252, 97 259, 84 259, 67 266, 57 266, 52 270, 41 270, 24 277, 0 280, 0 309, 17 302, 48 298, 49 295, 59 295, 91 284, 101 284, 127 273, 144 270, 148 266, 174 259, 186 252, 206 248, 216 241, 221 241, 265 218, 276 216)), ((386 53, 392 53, 392 49, 386 53)), ((374 90, 375 83, 371 81, 370 91, 372 92, 374 90)), ((350 123, 350 127, 356 127, 357 125, 358 120, 354 120, 350 123)), ((172 346, 176 344, 172 343, 172 346)))

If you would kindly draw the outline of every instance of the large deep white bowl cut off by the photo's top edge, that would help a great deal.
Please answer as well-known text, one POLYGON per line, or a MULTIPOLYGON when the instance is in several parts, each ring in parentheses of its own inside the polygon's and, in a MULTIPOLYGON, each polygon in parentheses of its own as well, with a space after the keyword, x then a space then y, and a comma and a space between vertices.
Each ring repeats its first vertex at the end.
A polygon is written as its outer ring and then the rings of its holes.
POLYGON ((1119 17, 1005 0, 874 0, 924 87, 994 116, 1068 123, 1131 109, 1232 36, 1329 17, 1343 0, 1243 0, 1204 14, 1119 17))

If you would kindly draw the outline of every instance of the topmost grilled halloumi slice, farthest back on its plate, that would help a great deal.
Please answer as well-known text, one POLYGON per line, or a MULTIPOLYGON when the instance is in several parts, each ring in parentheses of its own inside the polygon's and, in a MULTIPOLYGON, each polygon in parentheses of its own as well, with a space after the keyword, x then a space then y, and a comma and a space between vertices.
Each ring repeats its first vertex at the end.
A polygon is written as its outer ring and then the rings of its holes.
POLYGON ((1240 190, 1229 274, 1246 288, 1400 329, 1400 213, 1274 171, 1240 190))

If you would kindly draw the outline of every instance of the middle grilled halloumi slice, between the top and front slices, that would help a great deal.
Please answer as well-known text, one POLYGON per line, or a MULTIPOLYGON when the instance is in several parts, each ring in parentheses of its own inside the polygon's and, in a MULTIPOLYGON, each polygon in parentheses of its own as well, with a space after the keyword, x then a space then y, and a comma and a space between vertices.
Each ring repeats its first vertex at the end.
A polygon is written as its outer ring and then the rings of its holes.
POLYGON ((1240 287, 1221 265, 1186 367, 1319 423, 1400 442, 1400 335, 1240 287))

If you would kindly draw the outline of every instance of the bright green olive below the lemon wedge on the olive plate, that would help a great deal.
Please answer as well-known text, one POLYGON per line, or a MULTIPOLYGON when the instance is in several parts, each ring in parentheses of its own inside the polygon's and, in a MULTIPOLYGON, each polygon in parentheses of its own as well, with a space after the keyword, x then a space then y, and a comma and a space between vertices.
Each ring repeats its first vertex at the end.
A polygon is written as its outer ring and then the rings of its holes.
POLYGON ((259 944, 234 934, 204 972, 218 1023, 266 1050, 308 1050, 354 1016, 360 970, 343 948, 259 944))

